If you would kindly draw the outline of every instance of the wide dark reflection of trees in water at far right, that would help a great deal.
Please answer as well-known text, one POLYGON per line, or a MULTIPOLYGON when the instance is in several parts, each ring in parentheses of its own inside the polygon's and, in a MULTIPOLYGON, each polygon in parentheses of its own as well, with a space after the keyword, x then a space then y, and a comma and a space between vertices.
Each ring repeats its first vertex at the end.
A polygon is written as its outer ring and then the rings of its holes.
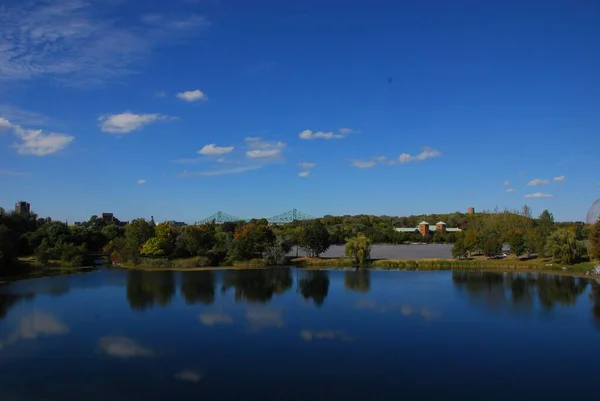
POLYGON ((531 309, 536 299, 547 310, 556 305, 570 306, 588 285, 586 279, 579 277, 481 271, 453 271, 452 281, 471 299, 492 309, 531 309))

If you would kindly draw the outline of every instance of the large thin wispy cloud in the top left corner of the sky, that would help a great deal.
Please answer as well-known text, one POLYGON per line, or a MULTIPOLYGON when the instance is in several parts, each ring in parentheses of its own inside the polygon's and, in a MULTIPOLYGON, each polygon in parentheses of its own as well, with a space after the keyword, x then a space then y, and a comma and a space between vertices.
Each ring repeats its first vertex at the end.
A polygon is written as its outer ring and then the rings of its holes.
POLYGON ((209 25, 195 14, 134 24, 125 21, 117 3, 53 0, 3 5, 0 76, 5 81, 50 77, 71 86, 101 84, 137 72, 133 67, 157 46, 197 36, 209 25))

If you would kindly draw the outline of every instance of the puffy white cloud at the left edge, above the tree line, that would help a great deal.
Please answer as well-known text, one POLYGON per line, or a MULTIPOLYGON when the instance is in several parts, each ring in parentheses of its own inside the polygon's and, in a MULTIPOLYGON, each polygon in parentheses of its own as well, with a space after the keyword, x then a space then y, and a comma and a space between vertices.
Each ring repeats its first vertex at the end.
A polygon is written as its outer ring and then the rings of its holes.
POLYGON ((42 130, 24 129, 0 117, 0 128, 12 131, 19 139, 13 146, 19 154, 46 156, 65 149, 75 138, 62 133, 42 133, 42 130))

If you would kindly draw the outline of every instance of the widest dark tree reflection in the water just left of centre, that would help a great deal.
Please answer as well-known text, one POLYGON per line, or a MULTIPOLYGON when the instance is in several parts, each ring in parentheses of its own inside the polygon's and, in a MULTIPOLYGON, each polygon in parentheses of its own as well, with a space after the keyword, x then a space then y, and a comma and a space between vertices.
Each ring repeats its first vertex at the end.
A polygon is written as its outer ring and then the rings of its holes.
POLYGON ((268 302, 273 294, 283 294, 292 288, 289 268, 278 267, 261 270, 227 270, 223 275, 222 291, 235 288, 235 300, 268 302))

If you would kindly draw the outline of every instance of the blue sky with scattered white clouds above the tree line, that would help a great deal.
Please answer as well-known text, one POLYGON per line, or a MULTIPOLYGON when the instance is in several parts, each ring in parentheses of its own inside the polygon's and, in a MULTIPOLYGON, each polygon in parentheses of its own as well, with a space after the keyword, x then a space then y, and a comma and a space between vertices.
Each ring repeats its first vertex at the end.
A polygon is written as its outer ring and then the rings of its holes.
POLYGON ((583 220, 600 197, 597 1, 3 4, 7 209, 583 220))

